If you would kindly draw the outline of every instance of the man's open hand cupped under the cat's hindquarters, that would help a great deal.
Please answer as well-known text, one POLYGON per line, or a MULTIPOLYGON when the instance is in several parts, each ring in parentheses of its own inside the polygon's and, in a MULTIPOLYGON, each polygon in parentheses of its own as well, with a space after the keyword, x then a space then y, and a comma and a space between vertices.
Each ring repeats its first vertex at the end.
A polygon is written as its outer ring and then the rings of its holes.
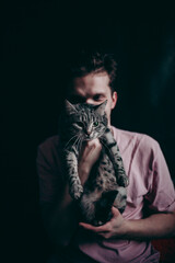
POLYGON ((116 207, 112 207, 113 217, 103 226, 94 227, 86 222, 80 222, 79 226, 93 231, 94 233, 102 236, 105 239, 121 238, 125 236, 126 220, 116 207))

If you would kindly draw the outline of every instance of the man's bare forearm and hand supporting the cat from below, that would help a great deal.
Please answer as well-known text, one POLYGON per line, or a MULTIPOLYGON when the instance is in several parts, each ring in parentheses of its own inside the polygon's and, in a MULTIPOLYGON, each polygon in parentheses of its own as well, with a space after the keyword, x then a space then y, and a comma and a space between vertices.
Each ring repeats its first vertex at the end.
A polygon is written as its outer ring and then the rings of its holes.
POLYGON ((144 219, 126 220, 119 210, 112 209, 113 218, 101 227, 80 222, 85 229, 108 238, 148 240, 175 237, 175 213, 154 214, 144 219))

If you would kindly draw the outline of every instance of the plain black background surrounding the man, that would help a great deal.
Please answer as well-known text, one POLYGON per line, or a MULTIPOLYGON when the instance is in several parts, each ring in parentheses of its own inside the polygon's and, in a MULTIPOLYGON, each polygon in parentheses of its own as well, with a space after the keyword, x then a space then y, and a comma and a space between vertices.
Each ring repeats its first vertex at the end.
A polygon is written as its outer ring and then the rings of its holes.
POLYGON ((175 180, 175 8, 173 1, 7 0, 1 19, 2 262, 45 262, 51 248, 39 217, 36 149, 57 133, 60 69, 75 49, 115 54, 113 124, 156 139, 175 180))

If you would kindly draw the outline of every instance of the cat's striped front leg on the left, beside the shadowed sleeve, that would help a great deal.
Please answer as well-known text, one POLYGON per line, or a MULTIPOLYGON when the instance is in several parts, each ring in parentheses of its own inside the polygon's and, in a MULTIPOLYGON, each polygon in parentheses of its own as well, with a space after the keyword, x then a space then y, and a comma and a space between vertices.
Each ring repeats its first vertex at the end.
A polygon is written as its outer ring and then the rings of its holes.
POLYGON ((66 151, 65 159, 69 193, 73 199, 79 199, 83 193, 83 186, 78 173, 78 158, 73 151, 66 151))

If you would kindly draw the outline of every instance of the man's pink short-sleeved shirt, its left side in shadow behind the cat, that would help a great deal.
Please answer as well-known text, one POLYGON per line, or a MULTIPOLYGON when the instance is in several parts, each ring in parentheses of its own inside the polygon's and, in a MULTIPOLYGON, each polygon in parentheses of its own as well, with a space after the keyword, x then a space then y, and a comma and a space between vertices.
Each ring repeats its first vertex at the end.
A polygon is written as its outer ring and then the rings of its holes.
MULTIPOLYGON (((159 144, 151 137, 113 127, 129 176, 126 219, 143 218, 143 206, 152 213, 175 210, 175 191, 159 144)), ((61 187, 59 138, 51 137, 38 148, 37 168, 40 202, 52 202, 61 187)), ((105 240, 79 229, 73 247, 101 263, 159 262, 159 253, 148 241, 105 240)))

